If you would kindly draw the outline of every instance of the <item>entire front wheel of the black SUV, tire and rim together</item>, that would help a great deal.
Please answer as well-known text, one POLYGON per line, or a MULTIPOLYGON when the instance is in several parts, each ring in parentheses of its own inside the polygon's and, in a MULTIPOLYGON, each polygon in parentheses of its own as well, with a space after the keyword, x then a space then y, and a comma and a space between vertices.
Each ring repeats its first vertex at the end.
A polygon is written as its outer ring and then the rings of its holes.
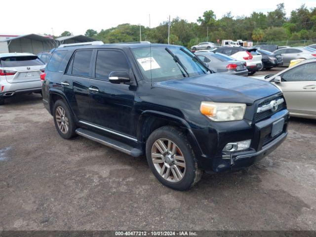
POLYGON ((146 142, 146 158, 159 182, 171 189, 187 190, 202 177, 187 137, 175 127, 152 132, 146 142))

